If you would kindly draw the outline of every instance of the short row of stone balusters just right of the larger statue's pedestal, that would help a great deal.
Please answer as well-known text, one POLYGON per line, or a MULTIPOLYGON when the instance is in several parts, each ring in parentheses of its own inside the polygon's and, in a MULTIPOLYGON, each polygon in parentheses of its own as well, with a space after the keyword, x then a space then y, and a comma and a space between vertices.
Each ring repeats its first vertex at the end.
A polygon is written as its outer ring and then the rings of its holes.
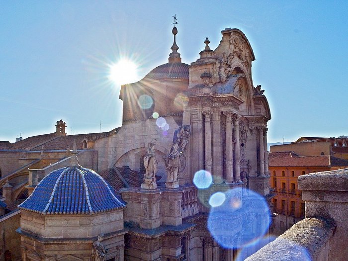
POLYGON ((199 212, 198 190, 195 186, 186 186, 182 192, 181 217, 189 217, 199 212))

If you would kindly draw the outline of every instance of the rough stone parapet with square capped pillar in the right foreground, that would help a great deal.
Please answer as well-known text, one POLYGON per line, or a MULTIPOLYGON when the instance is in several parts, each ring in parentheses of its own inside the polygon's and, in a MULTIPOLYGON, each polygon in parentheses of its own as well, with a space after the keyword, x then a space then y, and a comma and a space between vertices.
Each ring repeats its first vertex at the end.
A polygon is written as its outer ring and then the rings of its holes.
POLYGON ((247 261, 348 260, 348 169, 301 175, 305 219, 247 261))

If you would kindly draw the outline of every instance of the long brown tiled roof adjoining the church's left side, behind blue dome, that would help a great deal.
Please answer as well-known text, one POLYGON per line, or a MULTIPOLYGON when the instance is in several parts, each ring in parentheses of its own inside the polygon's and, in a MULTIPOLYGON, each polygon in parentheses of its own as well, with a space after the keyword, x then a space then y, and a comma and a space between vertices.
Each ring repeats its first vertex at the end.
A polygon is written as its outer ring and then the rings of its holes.
MULTIPOLYGON (((74 139, 76 139, 77 149, 83 150, 84 149, 84 143, 83 143, 84 139, 87 138, 88 141, 97 140, 100 138, 107 137, 107 136, 111 135, 113 132, 115 132, 115 129, 111 130, 109 132, 98 132, 98 133, 87 133, 87 134, 60 136, 54 140, 51 140, 51 141, 48 141, 48 142, 42 144, 42 146, 43 146, 45 151, 46 150, 66 150, 68 148, 68 146, 72 149, 74 139)), ((40 150, 41 150, 41 145, 31 149, 31 151, 40 151, 40 150)))

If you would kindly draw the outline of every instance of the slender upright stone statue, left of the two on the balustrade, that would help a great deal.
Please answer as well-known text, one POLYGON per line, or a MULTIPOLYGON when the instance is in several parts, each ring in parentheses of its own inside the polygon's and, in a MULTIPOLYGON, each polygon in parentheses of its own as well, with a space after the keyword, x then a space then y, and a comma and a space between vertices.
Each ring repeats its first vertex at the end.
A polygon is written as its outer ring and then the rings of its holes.
POLYGON ((155 143, 156 140, 153 140, 149 143, 148 150, 144 156, 144 183, 141 184, 141 188, 146 189, 155 189, 157 188, 156 184, 156 173, 157 173, 157 160, 155 153, 155 143))

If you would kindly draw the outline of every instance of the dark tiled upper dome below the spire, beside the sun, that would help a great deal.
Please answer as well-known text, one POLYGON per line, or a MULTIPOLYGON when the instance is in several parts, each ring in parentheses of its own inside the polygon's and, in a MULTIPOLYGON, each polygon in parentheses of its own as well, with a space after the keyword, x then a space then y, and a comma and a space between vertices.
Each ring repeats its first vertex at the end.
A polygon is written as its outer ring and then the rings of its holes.
POLYGON ((163 80, 163 79, 187 79, 188 64, 184 63, 167 63, 153 69, 145 76, 145 79, 163 80))

